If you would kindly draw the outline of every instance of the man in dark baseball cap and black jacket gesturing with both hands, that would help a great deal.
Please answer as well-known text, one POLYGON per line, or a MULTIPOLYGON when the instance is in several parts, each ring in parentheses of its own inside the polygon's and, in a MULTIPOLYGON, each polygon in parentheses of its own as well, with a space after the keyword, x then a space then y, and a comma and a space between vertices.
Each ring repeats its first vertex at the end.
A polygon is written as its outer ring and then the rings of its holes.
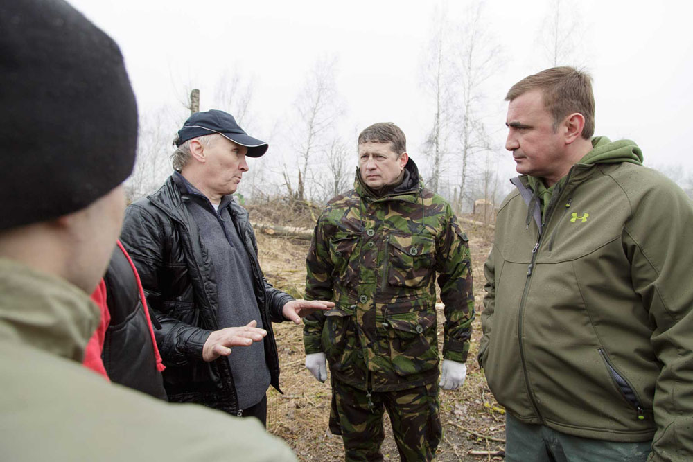
POLYGON ((301 323, 334 303, 294 300, 262 274, 248 213, 232 194, 246 157, 265 154, 267 143, 213 109, 188 118, 174 144, 176 171, 128 207, 121 234, 161 323, 164 387, 171 401, 265 423, 267 389, 279 389, 272 322, 301 323), (239 333, 252 339, 240 343, 239 333))

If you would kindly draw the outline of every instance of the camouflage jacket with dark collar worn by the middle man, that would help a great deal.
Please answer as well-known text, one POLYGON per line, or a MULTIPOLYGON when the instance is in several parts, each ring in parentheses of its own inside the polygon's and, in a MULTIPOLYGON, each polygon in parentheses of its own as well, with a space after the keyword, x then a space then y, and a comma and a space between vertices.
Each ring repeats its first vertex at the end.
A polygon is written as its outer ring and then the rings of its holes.
POLYGON ((306 299, 335 308, 304 318, 306 354, 324 352, 333 379, 370 391, 438 379, 435 275, 445 304, 443 356, 465 362, 474 318, 467 237, 450 204, 423 188, 410 159, 399 186, 360 181, 328 202, 306 264, 306 299))

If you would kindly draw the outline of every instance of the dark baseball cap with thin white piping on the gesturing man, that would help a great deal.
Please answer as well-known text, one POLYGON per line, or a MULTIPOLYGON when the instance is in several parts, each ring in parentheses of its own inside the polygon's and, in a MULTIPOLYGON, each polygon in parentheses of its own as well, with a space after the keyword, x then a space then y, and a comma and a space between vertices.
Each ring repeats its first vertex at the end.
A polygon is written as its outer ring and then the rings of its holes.
POLYGON ((179 146, 189 139, 213 133, 220 134, 226 139, 248 148, 248 153, 246 154, 248 157, 260 157, 265 154, 267 148, 270 147, 265 141, 260 141, 249 136, 238 126, 234 116, 218 109, 195 112, 195 114, 185 121, 182 129, 178 130, 178 137, 174 144, 179 146))

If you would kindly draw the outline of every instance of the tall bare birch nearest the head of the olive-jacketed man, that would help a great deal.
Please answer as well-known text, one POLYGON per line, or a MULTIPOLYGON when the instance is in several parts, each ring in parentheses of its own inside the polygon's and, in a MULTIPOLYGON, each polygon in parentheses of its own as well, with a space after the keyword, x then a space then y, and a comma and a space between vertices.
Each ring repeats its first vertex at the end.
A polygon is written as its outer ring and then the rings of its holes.
POLYGON ((465 199, 469 199, 466 186, 473 156, 479 152, 491 150, 491 139, 486 132, 481 108, 483 107, 484 83, 500 66, 500 47, 495 45, 493 38, 486 33, 485 24, 483 3, 480 1, 473 3, 460 29, 461 38, 457 56, 460 88, 457 156, 461 164, 459 189, 455 197, 458 211, 464 207, 465 199))

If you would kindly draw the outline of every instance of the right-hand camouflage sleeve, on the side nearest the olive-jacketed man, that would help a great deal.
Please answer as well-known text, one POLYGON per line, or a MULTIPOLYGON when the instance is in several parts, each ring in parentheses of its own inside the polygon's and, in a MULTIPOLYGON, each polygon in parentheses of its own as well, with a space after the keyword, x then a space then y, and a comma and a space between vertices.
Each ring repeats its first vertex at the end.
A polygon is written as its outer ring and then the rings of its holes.
POLYGON ((445 229, 436 243, 436 271, 445 308, 443 357, 466 362, 474 320, 471 255, 468 238, 448 205, 445 229))

